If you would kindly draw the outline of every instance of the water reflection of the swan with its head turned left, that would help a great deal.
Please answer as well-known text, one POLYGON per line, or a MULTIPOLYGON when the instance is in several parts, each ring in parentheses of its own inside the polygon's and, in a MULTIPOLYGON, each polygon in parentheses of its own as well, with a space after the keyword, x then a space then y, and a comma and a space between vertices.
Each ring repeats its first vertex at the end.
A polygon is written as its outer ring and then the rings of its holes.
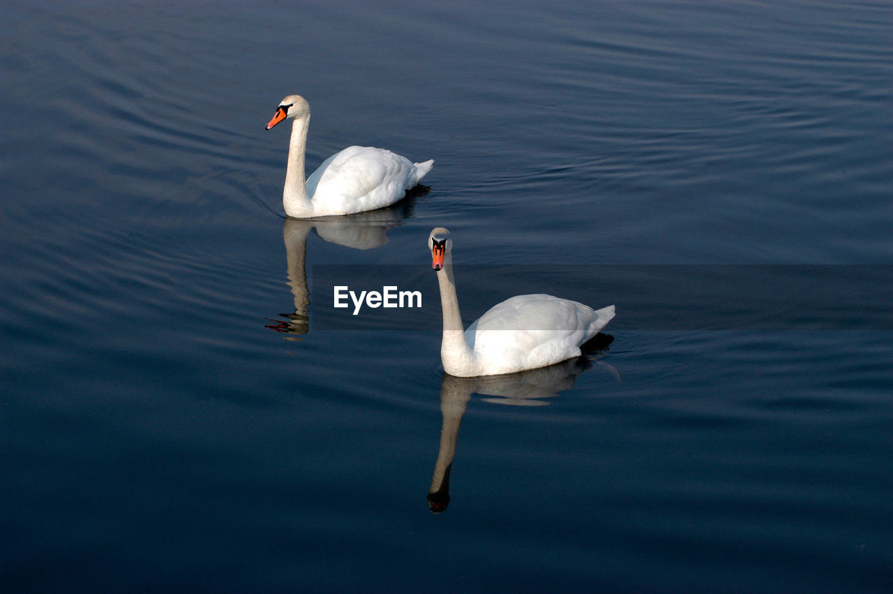
POLYGON ((269 320, 267 328, 292 335, 287 340, 300 340, 294 335, 310 331, 310 289, 307 286, 307 236, 313 230, 323 241, 353 249, 374 249, 388 243, 388 230, 399 227, 412 216, 415 198, 428 188, 420 186, 396 205, 368 213, 320 219, 286 219, 282 239, 288 259, 288 286, 295 300, 294 314, 280 314, 286 320, 269 320))

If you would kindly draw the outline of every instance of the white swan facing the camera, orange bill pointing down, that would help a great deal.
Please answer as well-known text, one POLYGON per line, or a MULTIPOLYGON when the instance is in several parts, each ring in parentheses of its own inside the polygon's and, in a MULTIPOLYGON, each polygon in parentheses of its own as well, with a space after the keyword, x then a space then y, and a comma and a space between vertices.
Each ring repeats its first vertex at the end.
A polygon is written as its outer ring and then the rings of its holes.
POLYGON ((428 247, 444 314, 440 360, 450 375, 468 378, 521 372, 580 356, 580 345, 614 316, 613 305, 594 310, 551 295, 519 295, 494 305, 463 331, 449 231, 432 230, 428 247))

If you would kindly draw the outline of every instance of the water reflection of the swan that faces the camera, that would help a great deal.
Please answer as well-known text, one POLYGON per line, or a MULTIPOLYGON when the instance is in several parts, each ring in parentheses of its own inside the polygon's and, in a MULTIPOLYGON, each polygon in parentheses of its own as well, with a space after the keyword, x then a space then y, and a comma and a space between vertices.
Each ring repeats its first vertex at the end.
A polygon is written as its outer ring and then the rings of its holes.
POLYGON ((603 366, 620 381, 620 374, 608 364, 597 361, 604 355, 613 337, 599 334, 583 345, 583 355, 562 363, 531 369, 526 372, 503 375, 485 375, 459 378, 444 373, 440 381, 440 413, 443 426, 440 430, 438 460, 434 464, 434 476, 428 491, 428 506, 440 514, 449 505, 449 477, 453 467, 456 439, 462 423, 465 407, 472 394, 480 394, 483 402, 511 406, 547 406, 547 398, 573 388, 580 373, 597 364, 603 366))

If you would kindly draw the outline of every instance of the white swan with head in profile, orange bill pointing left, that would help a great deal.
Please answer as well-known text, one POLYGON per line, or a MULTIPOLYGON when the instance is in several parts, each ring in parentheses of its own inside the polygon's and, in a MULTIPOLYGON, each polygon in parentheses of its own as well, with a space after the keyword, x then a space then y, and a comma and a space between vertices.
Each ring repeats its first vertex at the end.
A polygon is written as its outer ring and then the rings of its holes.
POLYGON ((304 179, 304 158, 310 104, 300 95, 282 99, 266 129, 292 118, 288 142, 288 168, 282 205, 285 213, 297 219, 333 214, 354 214, 392 205, 415 187, 434 164, 412 163, 384 148, 348 146, 322 162, 304 179))

